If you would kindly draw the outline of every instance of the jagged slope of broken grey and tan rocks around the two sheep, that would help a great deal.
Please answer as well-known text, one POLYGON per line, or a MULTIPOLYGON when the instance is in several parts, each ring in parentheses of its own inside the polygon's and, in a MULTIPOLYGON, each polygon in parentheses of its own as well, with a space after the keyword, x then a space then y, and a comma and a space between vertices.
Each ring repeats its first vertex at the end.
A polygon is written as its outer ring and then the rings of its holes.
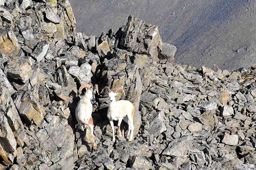
POLYGON ((133 16, 115 34, 77 33, 67 0, 0 5, 0 170, 256 168, 256 66, 174 64, 176 48, 133 16), (93 99, 92 150, 74 115, 83 83, 124 88, 133 142, 111 142, 104 92, 93 99))

